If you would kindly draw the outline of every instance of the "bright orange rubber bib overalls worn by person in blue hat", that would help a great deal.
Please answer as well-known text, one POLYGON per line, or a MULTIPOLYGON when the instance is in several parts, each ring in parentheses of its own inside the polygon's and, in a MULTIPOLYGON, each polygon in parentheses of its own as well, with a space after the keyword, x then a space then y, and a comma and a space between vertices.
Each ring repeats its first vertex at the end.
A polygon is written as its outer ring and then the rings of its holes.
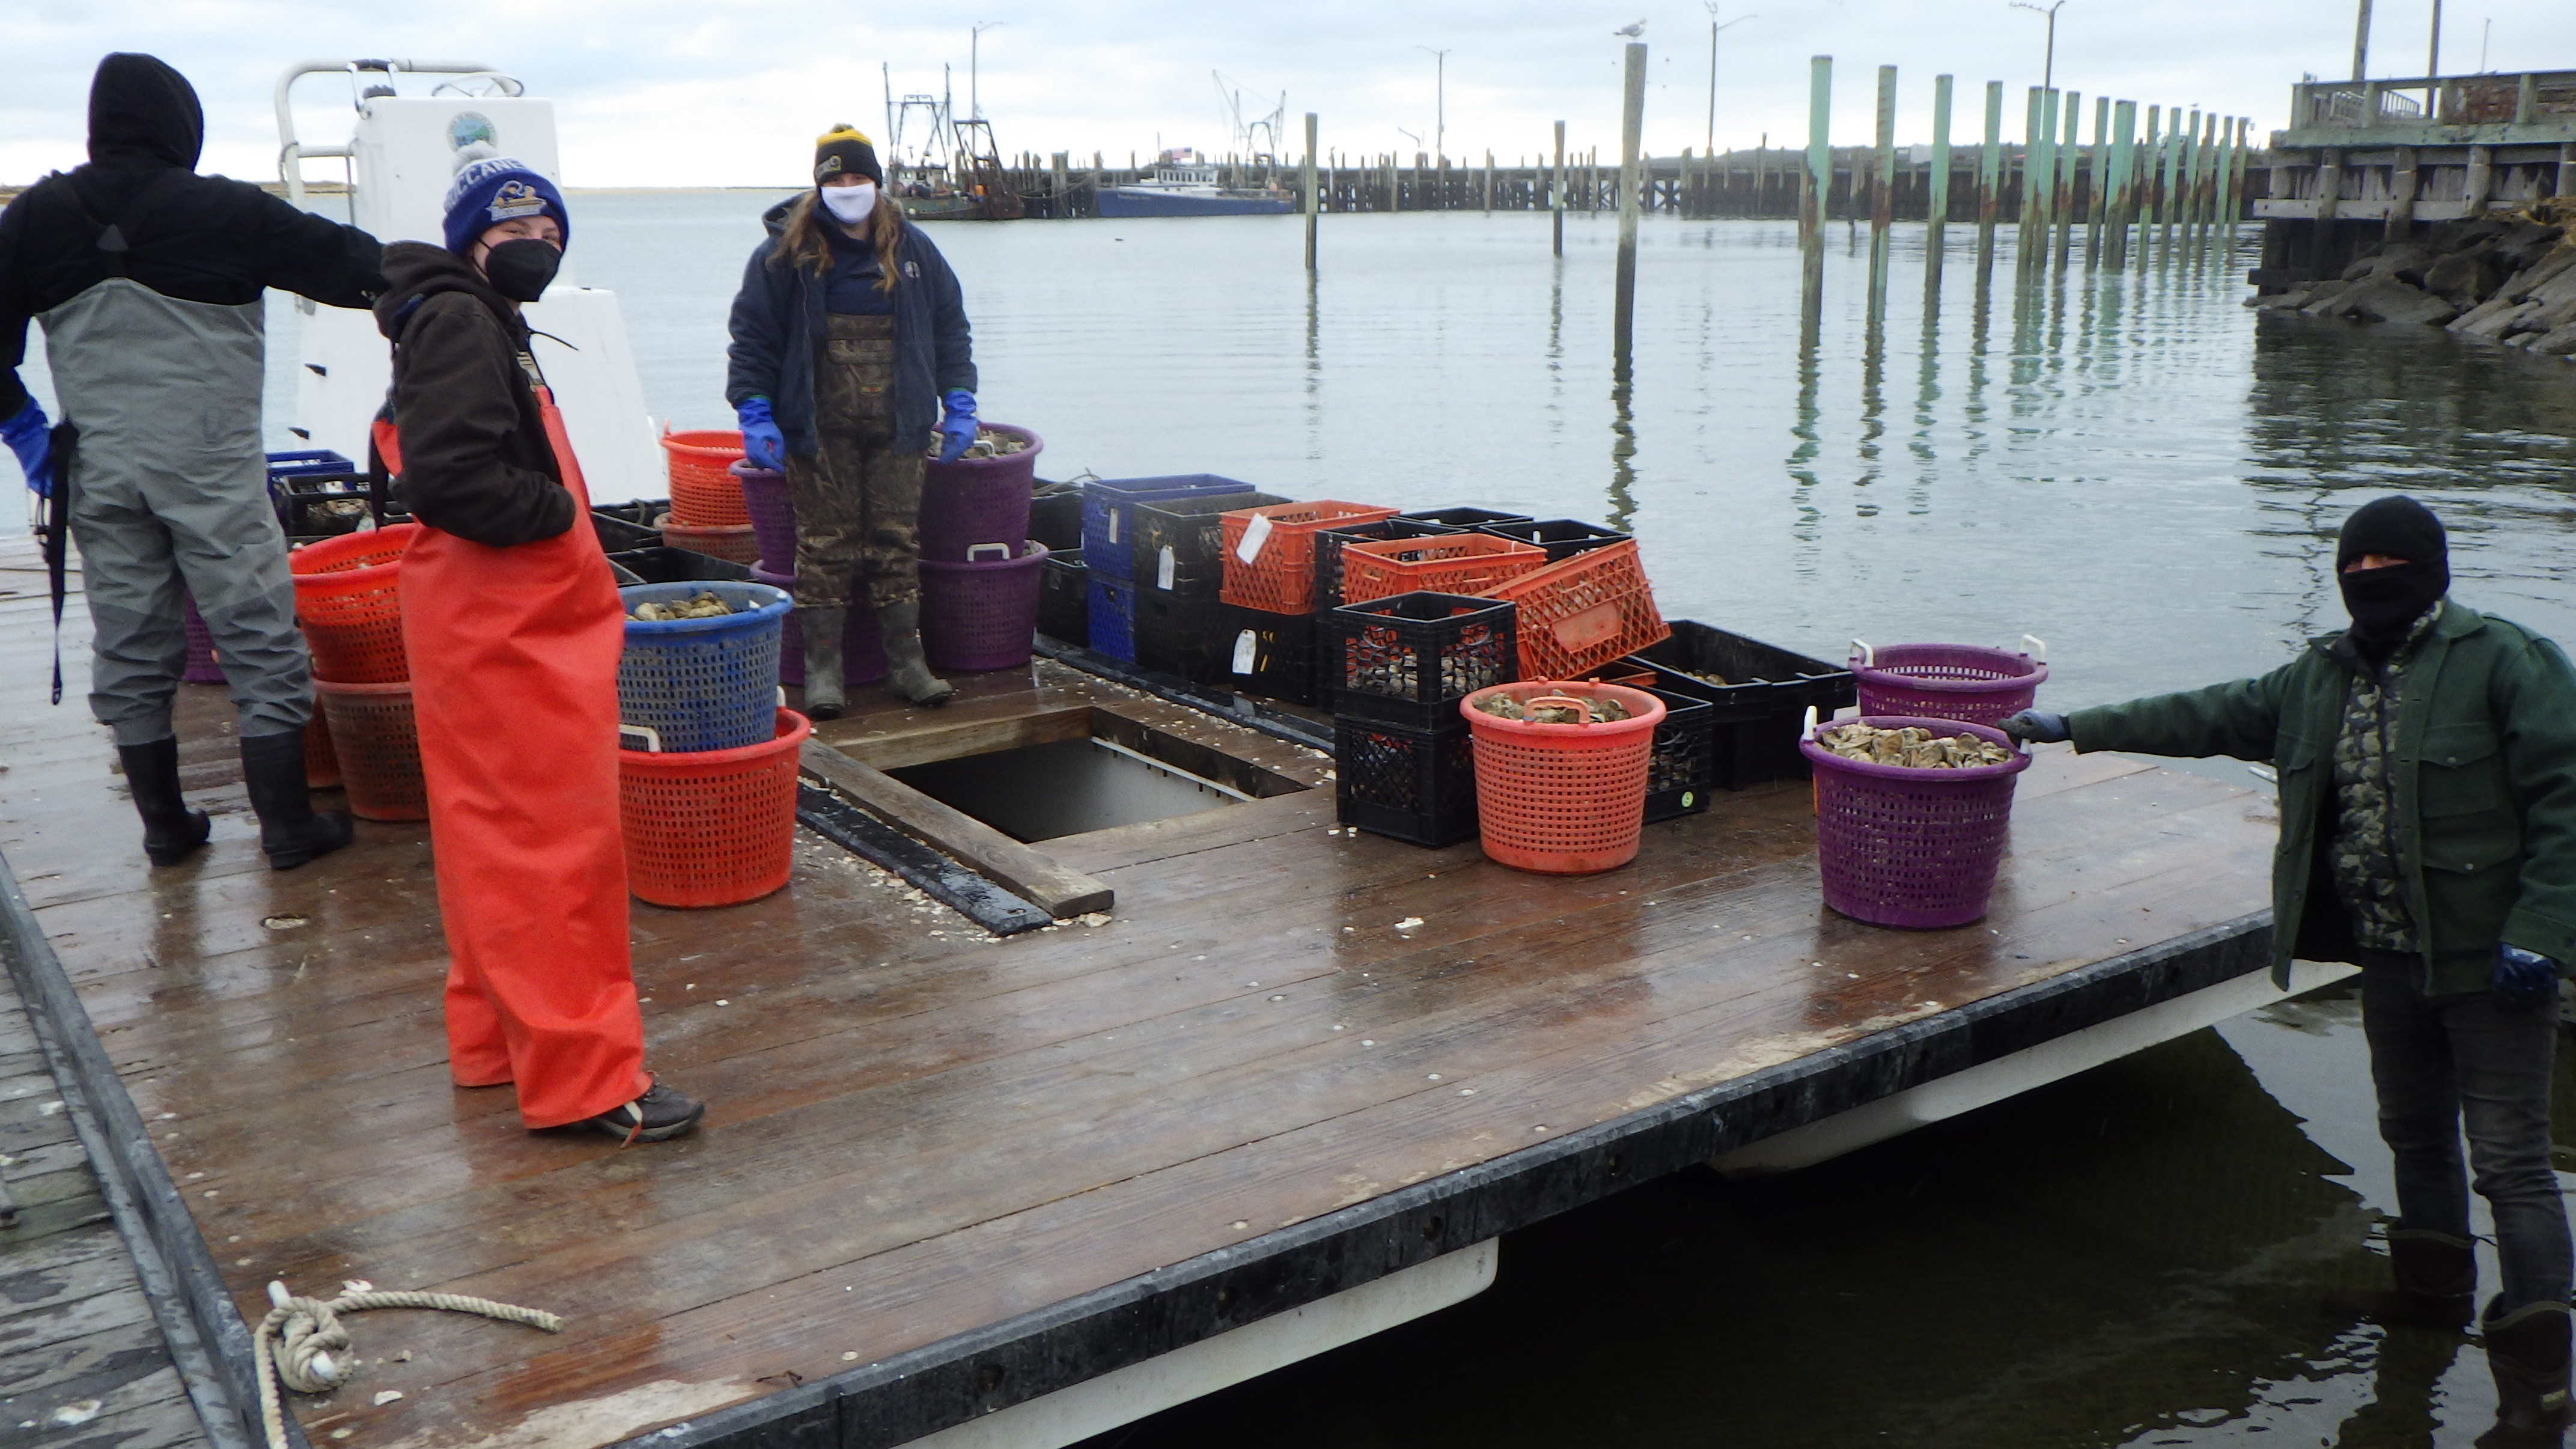
MULTIPOLYGON (((564 415, 549 389, 536 400, 572 529, 492 549, 422 523, 402 554, 402 642, 448 933, 448 1073, 515 1083, 520 1122, 562 1127, 652 1078, 618 835, 626 611, 564 415)), ((399 469, 386 443, 379 425, 399 469)))

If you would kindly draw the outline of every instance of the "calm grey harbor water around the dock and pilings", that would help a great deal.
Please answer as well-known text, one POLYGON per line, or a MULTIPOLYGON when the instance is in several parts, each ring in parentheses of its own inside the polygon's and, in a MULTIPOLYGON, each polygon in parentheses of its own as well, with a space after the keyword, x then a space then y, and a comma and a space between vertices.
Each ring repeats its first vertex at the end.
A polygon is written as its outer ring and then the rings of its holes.
MULTIPOLYGON (((729 423, 724 315, 770 201, 574 196, 657 418, 729 423)), ((1927 307, 1899 229, 1873 327, 1868 235, 1834 224, 1803 330, 1790 224, 1651 217, 1625 358, 1610 217, 1569 217, 1561 260, 1546 217, 1327 217, 1316 278, 1296 219, 933 235, 984 413, 1046 438, 1043 477, 1605 521, 1667 616, 1834 660, 2035 634, 2058 709, 2280 665, 2342 624, 2342 513, 2406 490, 2452 526, 2458 598, 2576 637, 2576 366, 2254 317, 2251 227, 2233 258, 2099 276, 2079 248, 2035 281, 2007 227, 1986 286, 1973 232, 1927 307)), ((2576 1145, 2566 1062, 2558 1096, 2576 1145)), ((1507 1238, 1479 1299, 1097 1446, 2465 1446, 2478 1348, 2321 1305, 2375 1281, 2383 1212, 2357 1000, 2329 990, 1803 1173, 1633 1189, 1507 1238)))

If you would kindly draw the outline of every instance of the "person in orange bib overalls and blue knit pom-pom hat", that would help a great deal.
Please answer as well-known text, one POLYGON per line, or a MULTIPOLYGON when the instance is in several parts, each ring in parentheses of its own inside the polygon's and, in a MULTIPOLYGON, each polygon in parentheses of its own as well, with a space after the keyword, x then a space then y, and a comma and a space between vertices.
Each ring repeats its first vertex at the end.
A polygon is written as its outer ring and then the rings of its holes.
POLYGON ((446 250, 384 250, 379 451, 420 521, 402 642, 448 933, 448 1070, 515 1085, 531 1129, 659 1142, 706 1106, 644 1073, 618 838, 626 619, 518 315, 569 229, 554 183, 484 155, 448 188, 446 250))

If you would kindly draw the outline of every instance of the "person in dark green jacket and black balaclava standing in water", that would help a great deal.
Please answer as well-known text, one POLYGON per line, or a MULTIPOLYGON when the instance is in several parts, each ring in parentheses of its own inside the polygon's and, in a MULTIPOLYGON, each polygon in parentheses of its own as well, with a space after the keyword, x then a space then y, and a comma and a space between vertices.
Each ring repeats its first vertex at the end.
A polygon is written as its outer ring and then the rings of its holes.
POLYGON ((2352 627, 2236 683, 2014 714, 2014 740, 2269 761, 2275 980, 2290 959, 2362 967, 2380 1137, 2396 1158, 2396 1292, 2383 1323, 2465 1328, 2478 1269, 2468 1165, 2496 1217, 2483 1336, 2499 1421, 2568 1423, 2571 1243, 2550 1171, 2558 977, 2576 962, 2576 670, 2450 590, 2442 521, 2411 498, 2357 508, 2334 549, 2352 627))

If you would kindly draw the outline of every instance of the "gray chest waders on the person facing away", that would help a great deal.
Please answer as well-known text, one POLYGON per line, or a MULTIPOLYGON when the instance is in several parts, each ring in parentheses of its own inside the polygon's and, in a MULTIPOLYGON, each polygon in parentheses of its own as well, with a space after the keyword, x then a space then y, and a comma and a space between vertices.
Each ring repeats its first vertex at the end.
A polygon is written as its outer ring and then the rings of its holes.
POLYGON ((116 276, 39 320, 80 433, 64 503, 95 627, 90 712, 118 745, 170 737, 185 590, 240 735, 301 730, 312 668, 260 449, 260 304, 180 302, 116 276))

